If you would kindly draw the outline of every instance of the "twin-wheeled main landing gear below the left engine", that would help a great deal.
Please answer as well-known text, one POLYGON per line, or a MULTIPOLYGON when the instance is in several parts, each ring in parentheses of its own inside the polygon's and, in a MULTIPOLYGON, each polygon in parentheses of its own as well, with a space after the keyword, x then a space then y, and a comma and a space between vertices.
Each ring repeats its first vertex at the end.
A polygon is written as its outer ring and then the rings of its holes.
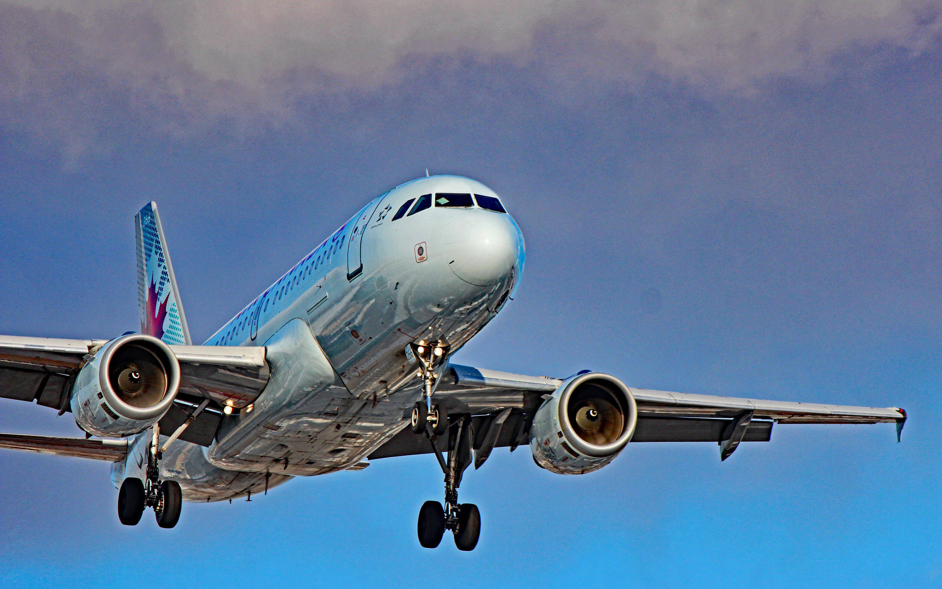
POLYGON ((145 507, 154 508, 157 525, 161 528, 172 528, 180 520, 180 509, 183 506, 180 483, 160 481, 159 478, 159 436, 160 429, 155 425, 151 450, 147 454, 147 480, 128 477, 121 483, 121 490, 118 492, 118 518, 125 526, 137 525, 145 507))

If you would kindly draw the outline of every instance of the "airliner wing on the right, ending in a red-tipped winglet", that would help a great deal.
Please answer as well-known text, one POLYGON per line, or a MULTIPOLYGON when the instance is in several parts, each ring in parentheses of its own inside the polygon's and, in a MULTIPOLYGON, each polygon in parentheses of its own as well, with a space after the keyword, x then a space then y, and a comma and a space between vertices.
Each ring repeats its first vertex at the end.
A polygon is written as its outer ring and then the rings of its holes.
MULTIPOLYGON (((533 414, 564 379, 528 376, 485 368, 450 365, 435 397, 449 415, 473 417, 474 450, 515 449, 529 441, 533 414), (491 432, 500 419, 496 433, 491 432), (491 434, 492 439, 487 439, 491 434)), ((728 440, 740 423, 743 442, 769 441, 773 424, 781 423, 896 423, 902 430, 906 413, 898 407, 854 407, 795 401, 765 401, 693 395, 628 387, 638 404, 638 425, 632 442, 713 442, 728 440)), ((735 446, 733 446, 735 449, 735 446)), ((370 459, 430 452, 423 436, 406 428, 369 456, 370 459)), ((723 450, 723 459, 732 450, 723 450)), ((484 457, 486 459, 486 456, 484 457)), ((477 460, 476 464, 483 462, 477 460)))

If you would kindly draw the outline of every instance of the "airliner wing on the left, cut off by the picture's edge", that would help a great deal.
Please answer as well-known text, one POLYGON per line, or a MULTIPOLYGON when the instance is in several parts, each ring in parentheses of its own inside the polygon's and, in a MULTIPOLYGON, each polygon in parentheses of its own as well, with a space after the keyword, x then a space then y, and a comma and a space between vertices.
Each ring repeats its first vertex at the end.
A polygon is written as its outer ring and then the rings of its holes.
MULTIPOLYGON (((0 335, 0 398, 36 401, 70 411, 75 375, 105 339, 57 339, 0 335)), ((180 362, 181 383, 171 410, 160 420, 173 431, 187 420, 192 407, 210 399, 209 406, 190 424, 180 439, 208 446, 219 425, 226 402, 235 407, 255 400, 268 384, 264 347, 171 345, 180 362)))

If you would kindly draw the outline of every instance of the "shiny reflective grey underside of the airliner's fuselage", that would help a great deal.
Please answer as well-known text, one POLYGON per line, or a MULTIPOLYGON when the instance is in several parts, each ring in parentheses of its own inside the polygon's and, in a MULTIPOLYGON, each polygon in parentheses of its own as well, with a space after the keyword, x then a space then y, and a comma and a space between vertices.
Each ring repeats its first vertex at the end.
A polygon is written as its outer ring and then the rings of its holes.
MULTIPOLYGON (((438 308, 427 305, 430 312, 423 316, 403 308, 408 296, 391 297, 388 287, 370 281, 365 275, 357 288, 272 335, 269 361, 276 355, 294 359, 273 365, 272 380, 252 413, 242 410, 220 428, 217 442, 203 450, 211 465, 269 478, 364 467, 366 456, 405 427, 421 398, 406 345, 424 338, 461 348, 494 317, 489 303, 507 288, 499 284, 438 308), (329 366, 322 367, 320 381, 305 380, 298 372, 318 356, 329 366), (323 384, 328 372, 333 384, 323 384)), ((252 488, 257 484, 253 479, 252 488)))

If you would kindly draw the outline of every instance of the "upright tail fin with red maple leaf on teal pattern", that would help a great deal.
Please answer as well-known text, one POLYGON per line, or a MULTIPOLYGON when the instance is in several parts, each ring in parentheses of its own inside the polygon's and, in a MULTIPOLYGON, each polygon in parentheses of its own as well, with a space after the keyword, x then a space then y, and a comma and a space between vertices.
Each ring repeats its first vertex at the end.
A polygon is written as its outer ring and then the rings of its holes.
POLYGON ((173 277, 157 204, 144 205, 134 220, 138 234, 140 333, 154 335, 167 344, 190 345, 187 318, 173 277))

